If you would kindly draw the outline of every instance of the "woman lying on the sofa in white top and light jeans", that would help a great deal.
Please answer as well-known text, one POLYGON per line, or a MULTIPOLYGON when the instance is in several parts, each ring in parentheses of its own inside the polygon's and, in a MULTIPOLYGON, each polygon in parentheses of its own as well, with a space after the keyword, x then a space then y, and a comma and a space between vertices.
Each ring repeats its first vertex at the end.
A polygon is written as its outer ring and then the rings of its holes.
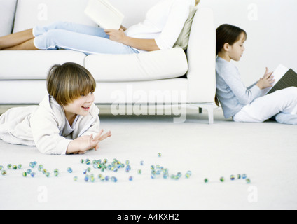
POLYGON ((200 0, 162 0, 148 10, 144 22, 126 29, 102 29, 54 22, 0 37, 0 50, 76 50, 85 54, 132 54, 172 48, 200 0), (165 14, 165 16, 164 16, 165 14))

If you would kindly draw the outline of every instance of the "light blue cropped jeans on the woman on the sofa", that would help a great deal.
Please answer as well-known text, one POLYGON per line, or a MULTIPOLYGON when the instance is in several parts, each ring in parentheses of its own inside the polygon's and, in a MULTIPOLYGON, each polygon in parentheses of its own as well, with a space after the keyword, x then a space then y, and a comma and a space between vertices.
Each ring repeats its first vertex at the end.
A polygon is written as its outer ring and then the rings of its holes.
POLYGON ((33 28, 34 45, 40 50, 76 50, 86 55, 133 54, 138 50, 109 40, 104 29, 71 22, 54 22, 44 27, 33 28))

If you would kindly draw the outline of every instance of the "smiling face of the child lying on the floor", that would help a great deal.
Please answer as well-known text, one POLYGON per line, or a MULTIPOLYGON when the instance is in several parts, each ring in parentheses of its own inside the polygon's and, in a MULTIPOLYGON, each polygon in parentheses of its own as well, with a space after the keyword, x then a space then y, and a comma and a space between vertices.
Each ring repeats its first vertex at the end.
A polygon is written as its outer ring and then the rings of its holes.
POLYGON ((90 92, 88 95, 81 96, 78 99, 75 99, 74 102, 63 106, 63 108, 65 113, 87 116, 94 100, 94 94, 90 92))

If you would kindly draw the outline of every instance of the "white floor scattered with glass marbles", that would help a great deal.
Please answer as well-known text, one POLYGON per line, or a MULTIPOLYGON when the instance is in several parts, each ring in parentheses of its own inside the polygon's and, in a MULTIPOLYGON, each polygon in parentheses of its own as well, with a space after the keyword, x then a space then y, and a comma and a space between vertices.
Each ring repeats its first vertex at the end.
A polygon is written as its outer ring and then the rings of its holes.
POLYGON ((0 174, 0 209, 297 209, 297 127, 234 123, 220 110, 214 119, 214 125, 208 125, 205 111, 198 116, 191 110, 184 123, 173 123, 172 116, 105 114, 102 128, 113 136, 102 141, 99 151, 85 155, 42 155, 34 147, 0 141, 0 165, 7 171, 0 174), (130 160, 132 169, 100 172, 80 163, 87 158, 130 160), (36 168, 34 178, 22 177, 33 161, 44 165, 50 177, 36 168), (8 164, 23 167, 7 169, 8 164), (182 176, 151 179, 151 165, 182 176), (69 174, 67 167, 74 172, 69 174), (83 180, 87 167, 96 177, 94 183, 83 180), (53 175, 55 168, 60 170, 58 177, 53 175), (188 170, 192 175, 186 179, 188 170), (118 181, 99 181, 98 174, 118 181), (231 174, 247 174, 251 183, 230 181, 231 174))

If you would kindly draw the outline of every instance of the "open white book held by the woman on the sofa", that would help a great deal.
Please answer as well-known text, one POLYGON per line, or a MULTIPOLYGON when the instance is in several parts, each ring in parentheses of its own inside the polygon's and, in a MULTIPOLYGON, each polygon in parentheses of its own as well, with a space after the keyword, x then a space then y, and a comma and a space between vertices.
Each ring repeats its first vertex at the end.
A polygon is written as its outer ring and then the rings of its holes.
POLYGON ((108 0, 89 0, 85 14, 103 29, 120 29, 124 15, 108 0))

